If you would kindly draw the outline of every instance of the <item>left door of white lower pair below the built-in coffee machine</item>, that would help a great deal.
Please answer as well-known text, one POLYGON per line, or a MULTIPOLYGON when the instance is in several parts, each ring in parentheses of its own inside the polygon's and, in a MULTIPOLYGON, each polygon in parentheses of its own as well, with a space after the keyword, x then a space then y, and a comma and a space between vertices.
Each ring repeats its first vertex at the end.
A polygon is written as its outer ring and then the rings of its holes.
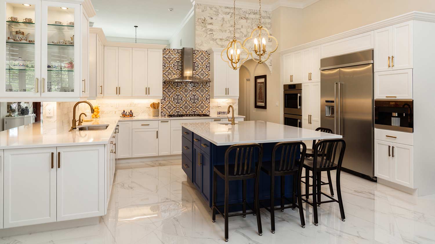
POLYGON ((375 140, 375 176, 392 181, 391 149, 393 144, 386 141, 375 140), (389 147, 389 148, 388 148, 389 147))

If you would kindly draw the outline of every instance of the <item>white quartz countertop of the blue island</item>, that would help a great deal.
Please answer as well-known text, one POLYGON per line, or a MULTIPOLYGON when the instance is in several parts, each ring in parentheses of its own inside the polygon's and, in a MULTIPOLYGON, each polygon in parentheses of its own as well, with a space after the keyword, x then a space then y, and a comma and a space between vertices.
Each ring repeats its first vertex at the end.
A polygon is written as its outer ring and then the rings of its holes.
POLYGON ((302 129, 283 124, 257 121, 240 121, 235 125, 215 122, 182 123, 181 126, 217 146, 237 143, 271 143, 300 140, 342 138, 340 135, 302 129))

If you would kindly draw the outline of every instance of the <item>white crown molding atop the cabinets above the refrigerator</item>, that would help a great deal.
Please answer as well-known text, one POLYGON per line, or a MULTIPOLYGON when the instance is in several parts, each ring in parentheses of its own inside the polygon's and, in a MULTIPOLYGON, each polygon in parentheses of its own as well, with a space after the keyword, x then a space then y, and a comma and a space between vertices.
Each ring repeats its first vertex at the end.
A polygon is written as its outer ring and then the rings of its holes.
POLYGON ((381 20, 376 23, 372 23, 366 26, 361 26, 355 29, 351 29, 342 33, 338 33, 333 36, 328 36, 322 39, 318 39, 312 42, 308 42, 299 46, 294 46, 289 49, 285 49, 279 52, 280 55, 284 55, 291 52, 296 52, 302 49, 307 49, 313 46, 318 46, 321 44, 325 44, 328 42, 333 42, 336 40, 340 40, 346 37, 355 36, 358 34, 366 33, 369 31, 373 31, 375 29, 381 29, 387 26, 392 26, 398 23, 403 23, 408 20, 421 20, 426 22, 434 22, 435 23, 435 13, 425 13, 425 12, 419 12, 419 11, 413 11, 409 13, 405 13, 399 16, 395 16, 386 20, 381 20))

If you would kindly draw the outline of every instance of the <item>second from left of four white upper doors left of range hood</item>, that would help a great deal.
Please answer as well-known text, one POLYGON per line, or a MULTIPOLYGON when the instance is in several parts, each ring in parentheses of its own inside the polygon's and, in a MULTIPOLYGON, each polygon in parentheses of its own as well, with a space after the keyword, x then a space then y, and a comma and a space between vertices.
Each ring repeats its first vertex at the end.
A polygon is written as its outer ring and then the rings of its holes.
POLYGON ((131 97, 132 48, 118 48, 118 97, 131 97))

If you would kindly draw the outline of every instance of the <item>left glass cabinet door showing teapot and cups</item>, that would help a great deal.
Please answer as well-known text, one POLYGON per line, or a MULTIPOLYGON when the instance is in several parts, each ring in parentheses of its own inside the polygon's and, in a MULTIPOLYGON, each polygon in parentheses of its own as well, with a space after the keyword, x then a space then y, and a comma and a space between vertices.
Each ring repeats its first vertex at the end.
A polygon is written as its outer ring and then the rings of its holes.
POLYGON ((41 1, 0 0, 2 97, 39 97, 41 77, 41 1), (3 35, 2 35, 3 36, 3 35))

